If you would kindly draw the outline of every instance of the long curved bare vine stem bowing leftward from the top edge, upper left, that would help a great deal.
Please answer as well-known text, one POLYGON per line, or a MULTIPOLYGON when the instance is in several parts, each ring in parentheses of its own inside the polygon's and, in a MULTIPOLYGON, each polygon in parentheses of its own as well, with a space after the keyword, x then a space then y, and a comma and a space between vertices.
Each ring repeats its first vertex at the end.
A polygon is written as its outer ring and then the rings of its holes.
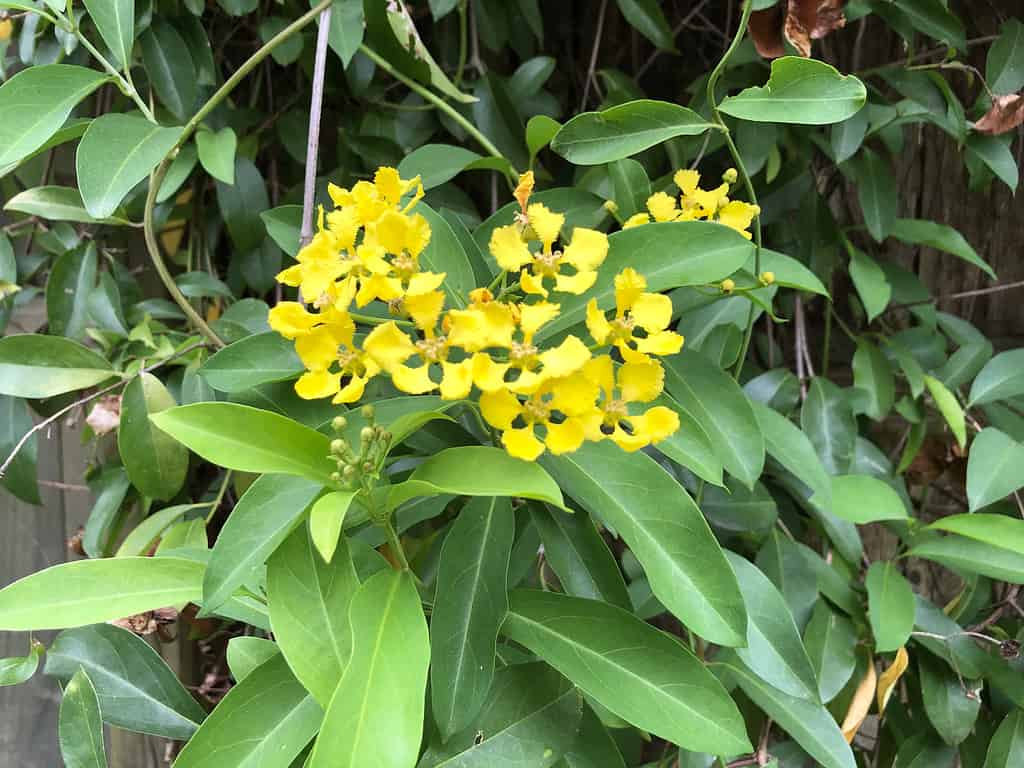
POLYGON ((296 18, 292 22, 292 24, 267 40, 259 50, 249 56, 249 58, 247 58, 246 61, 234 71, 234 74, 224 81, 224 84, 217 89, 216 93, 210 96, 207 102, 200 108, 200 111, 193 116, 191 120, 185 124, 177 142, 173 147, 171 147, 171 151, 167 153, 164 159, 160 162, 160 165, 157 166, 157 169, 150 176, 150 193, 145 198, 145 209, 142 215, 145 248, 150 253, 150 259, 153 261, 153 265, 156 267, 157 274, 160 275, 160 280, 164 284, 164 288, 167 289, 171 298, 174 299, 174 303, 181 307, 181 311, 185 313, 185 316, 188 317, 189 321, 191 321, 193 325, 199 330, 199 332, 217 347, 224 346, 223 340, 217 336, 216 333, 214 333, 213 329, 207 325, 202 315, 196 311, 196 308, 188 303, 188 300, 184 297, 181 291, 178 290, 177 285, 174 283, 174 278, 167 268, 167 262, 164 261, 164 256, 160 252, 160 244, 157 242, 157 233, 153 225, 153 211, 157 203, 157 193, 159 191, 160 185, 164 180, 164 176, 167 175, 167 169, 170 167, 171 159, 177 151, 184 145, 185 141, 191 137, 207 115, 213 112, 221 101, 227 98, 231 91, 238 87, 239 83, 245 80, 246 76, 250 72, 256 69, 256 67, 264 58, 270 55, 270 52, 274 48, 317 18, 321 11, 329 8, 332 2, 334 2, 334 0, 322 0, 322 2, 313 6, 309 11, 296 18))

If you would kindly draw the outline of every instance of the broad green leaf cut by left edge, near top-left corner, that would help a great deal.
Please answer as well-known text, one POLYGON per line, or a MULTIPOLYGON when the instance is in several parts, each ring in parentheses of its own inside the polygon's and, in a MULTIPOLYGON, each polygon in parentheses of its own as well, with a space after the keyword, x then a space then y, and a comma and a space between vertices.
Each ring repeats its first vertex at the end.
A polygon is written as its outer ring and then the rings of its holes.
POLYGON ((29 67, 0 85, 0 167, 32 155, 111 76, 72 65, 29 67))

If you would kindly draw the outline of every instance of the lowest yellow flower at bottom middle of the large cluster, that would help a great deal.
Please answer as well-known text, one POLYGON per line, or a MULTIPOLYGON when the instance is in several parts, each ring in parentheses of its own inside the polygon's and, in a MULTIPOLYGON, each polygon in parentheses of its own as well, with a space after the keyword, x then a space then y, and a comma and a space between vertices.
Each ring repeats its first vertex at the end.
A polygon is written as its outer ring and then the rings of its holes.
POLYGON ((484 392, 480 413, 502 430, 502 444, 509 454, 534 461, 545 449, 565 454, 583 444, 597 395, 597 385, 577 373, 549 379, 524 401, 507 389, 484 392))

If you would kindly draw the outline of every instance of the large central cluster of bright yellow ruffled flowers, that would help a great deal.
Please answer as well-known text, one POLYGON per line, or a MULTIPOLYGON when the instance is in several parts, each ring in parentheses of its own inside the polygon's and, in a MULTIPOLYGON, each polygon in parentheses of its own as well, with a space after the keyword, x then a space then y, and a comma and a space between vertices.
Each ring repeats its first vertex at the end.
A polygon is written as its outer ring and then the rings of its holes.
POLYGON ((672 302, 648 292, 635 270, 615 276, 613 314, 589 302, 592 343, 574 335, 546 347, 537 340, 561 312, 560 295, 594 285, 608 239, 575 227, 560 243, 565 216, 530 203, 532 186, 532 174, 524 173, 514 222, 496 228, 489 242, 501 270, 492 288, 505 288, 498 296, 477 288, 463 306, 445 309, 445 274, 420 268, 430 226, 415 212, 423 197, 419 178, 381 168, 373 182, 332 185, 335 209, 321 211, 318 231, 298 263, 278 275, 299 289, 300 301, 281 302, 269 315, 272 329, 295 340, 306 368, 298 394, 354 402, 378 375, 410 394, 464 399, 475 389, 502 444, 526 460, 545 450, 575 451, 585 440, 637 451, 675 432, 674 411, 638 403, 662 393, 665 373, 656 358, 678 352, 683 338, 668 330, 672 302), (391 319, 359 316, 374 326, 360 344, 352 307, 375 301, 391 319))

